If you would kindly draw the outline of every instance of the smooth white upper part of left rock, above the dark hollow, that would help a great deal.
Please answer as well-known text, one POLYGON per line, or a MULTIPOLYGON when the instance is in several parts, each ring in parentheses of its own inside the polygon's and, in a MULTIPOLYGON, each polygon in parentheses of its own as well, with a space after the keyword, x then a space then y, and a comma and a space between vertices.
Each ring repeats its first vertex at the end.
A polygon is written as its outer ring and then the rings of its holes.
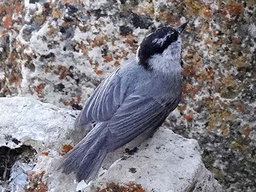
POLYGON ((78 111, 26 97, 2 97, 0 103, 1 146, 28 145, 39 153, 58 151, 64 144, 72 143, 69 133, 78 111))

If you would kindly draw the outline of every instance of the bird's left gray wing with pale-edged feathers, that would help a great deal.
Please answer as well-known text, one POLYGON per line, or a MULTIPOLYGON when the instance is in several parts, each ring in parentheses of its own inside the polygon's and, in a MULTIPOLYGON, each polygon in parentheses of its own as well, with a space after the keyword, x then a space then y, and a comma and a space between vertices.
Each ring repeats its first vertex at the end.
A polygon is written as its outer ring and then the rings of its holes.
POLYGON ((97 86, 93 95, 78 115, 75 127, 83 127, 91 122, 109 120, 123 100, 125 88, 120 83, 119 69, 97 86))

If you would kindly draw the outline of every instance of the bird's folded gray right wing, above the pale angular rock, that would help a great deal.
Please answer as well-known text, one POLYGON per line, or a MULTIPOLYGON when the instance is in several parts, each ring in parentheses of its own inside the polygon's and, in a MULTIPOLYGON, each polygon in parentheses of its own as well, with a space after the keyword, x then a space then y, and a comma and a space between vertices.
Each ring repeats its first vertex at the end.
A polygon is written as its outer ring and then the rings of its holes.
POLYGON ((179 103, 179 97, 162 104, 153 98, 130 96, 107 122, 108 150, 128 143, 139 134, 155 130, 179 103))

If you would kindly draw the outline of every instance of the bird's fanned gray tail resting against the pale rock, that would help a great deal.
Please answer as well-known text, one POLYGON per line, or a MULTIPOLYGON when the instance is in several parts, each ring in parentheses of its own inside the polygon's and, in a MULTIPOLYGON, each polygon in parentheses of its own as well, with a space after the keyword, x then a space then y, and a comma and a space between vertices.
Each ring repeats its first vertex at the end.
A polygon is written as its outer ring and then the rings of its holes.
POLYGON ((105 148, 107 135, 99 125, 89 132, 73 150, 61 159, 58 169, 65 174, 74 172, 78 182, 92 180, 100 169, 100 165, 107 154, 105 148))

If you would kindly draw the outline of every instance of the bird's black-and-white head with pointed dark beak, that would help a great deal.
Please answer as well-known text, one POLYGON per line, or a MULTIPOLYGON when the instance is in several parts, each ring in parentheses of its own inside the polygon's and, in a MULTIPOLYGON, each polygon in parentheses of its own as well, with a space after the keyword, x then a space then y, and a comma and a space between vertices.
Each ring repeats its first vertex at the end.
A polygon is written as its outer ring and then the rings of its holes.
POLYGON ((186 25, 187 22, 175 28, 161 27, 147 35, 137 50, 138 64, 144 66, 145 69, 153 70, 157 67, 172 67, 173 62, 180 64, 180 34, 186 25))

